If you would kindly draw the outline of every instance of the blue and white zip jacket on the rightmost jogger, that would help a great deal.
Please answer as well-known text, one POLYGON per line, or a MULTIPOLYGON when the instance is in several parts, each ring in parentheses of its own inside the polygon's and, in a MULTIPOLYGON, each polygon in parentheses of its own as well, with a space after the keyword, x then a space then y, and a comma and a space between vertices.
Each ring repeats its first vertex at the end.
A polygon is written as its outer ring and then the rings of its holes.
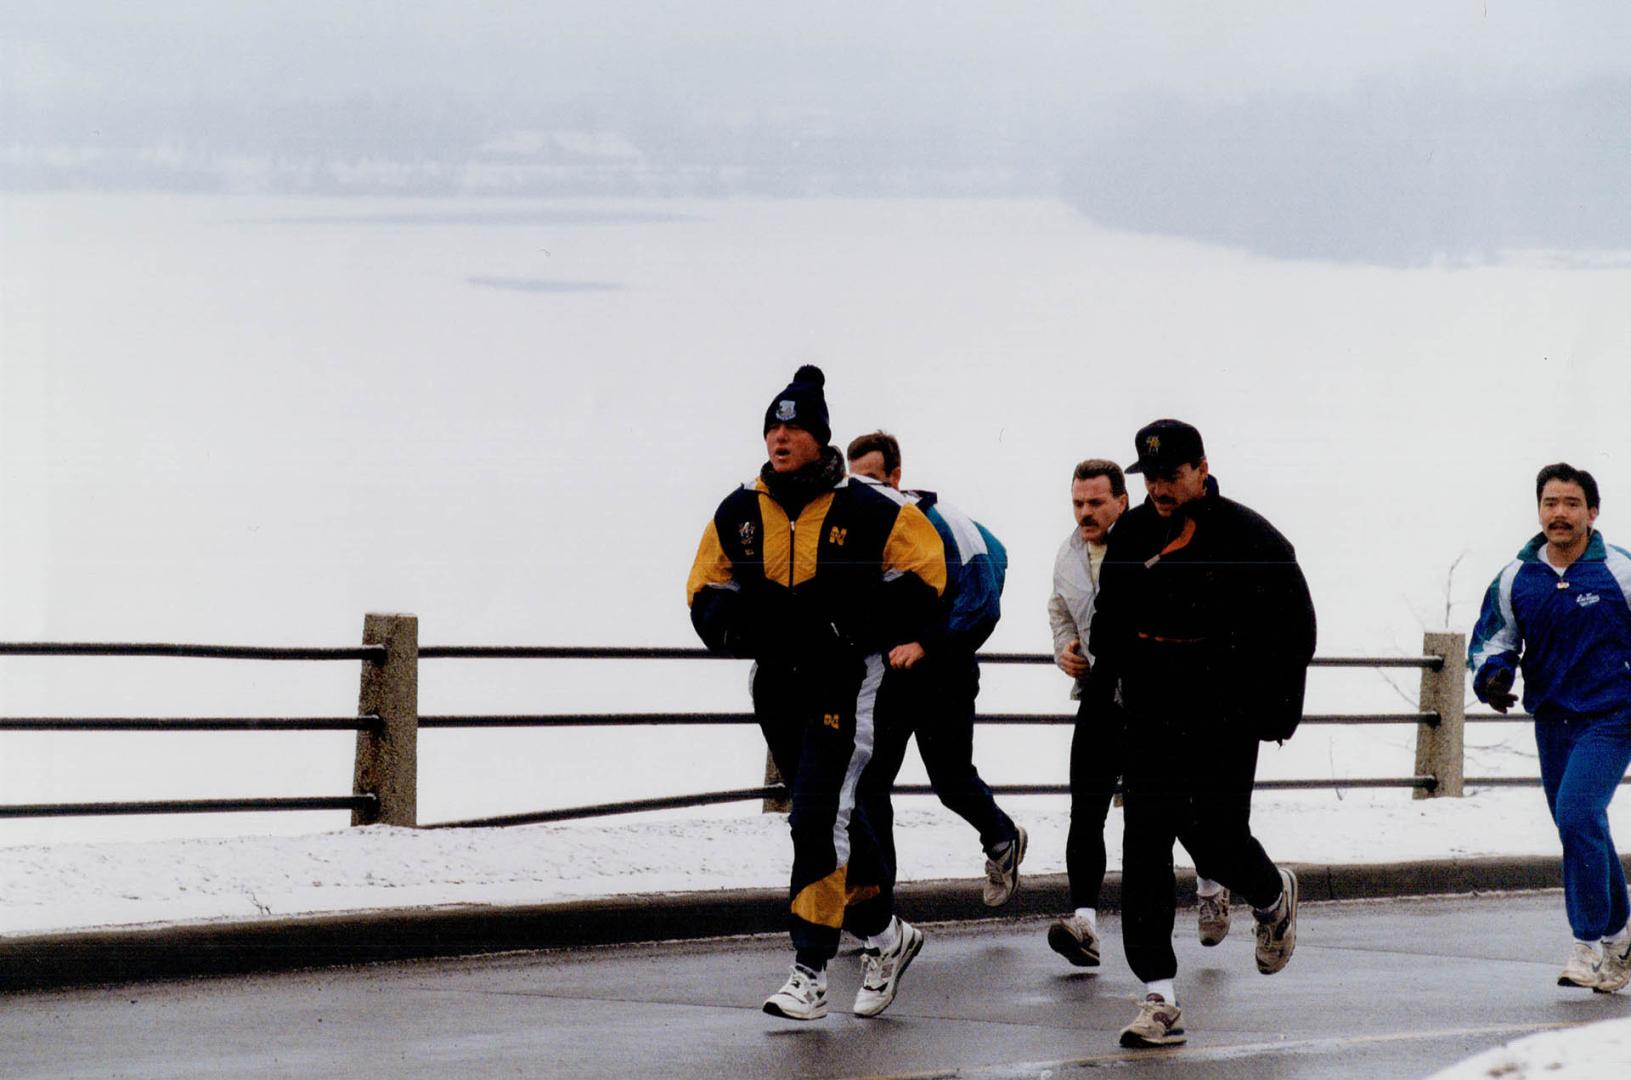
POLYGON ((1631 706, 1631 553, 1592 530, 1585 555, 1561 574, 1536 535, 1484 594, 1466 666, 1473 693, 1523 671, 1523 708, 1595 715, 1631 706))

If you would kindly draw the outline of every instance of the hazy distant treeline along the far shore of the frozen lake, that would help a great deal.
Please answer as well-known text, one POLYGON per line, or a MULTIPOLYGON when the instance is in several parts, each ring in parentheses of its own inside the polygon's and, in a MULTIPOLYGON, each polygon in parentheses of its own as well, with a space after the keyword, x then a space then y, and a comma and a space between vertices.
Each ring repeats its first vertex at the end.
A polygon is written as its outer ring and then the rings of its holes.
POLYGON ((1631 86, 1445 85, 1019 116, 687 113, 347 100, 135 108, 95 129, 18 109, 10 191, 626 197, 1060 197, 1117 228, 1287 258, 1631 251, 1631 86))

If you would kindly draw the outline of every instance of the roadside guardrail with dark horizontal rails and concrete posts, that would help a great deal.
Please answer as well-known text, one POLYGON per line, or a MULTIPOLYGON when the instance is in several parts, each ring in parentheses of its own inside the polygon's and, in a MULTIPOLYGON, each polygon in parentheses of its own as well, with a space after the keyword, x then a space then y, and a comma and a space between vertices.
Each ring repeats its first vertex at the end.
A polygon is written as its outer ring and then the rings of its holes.
MULTIPOLYGON (((233 811, 349 809, 354 825, 418 825, 418 733, 447 728, 590 728, 755 724, 752 713, 566 713, 566 715, 450 715, 418 711, 419 661, 422 659, 719 659, 696 648, 595 648, 595 646, 419 646, 413 615, 369 615, 362 644, 352 648, 253 648, 214 644, 86 644, 0 643, 0 656, 179 656, 235 661, 360 661, 356 716, 263 718, 142 718, 93 716, 0 718, 0 731, 356 731, 352 793, 347 796, 173 799, 139 803, 57 803, 0 806, 0 817, 51 817, 90 814, 191 814, 233 811)), ((1463 775, 1466 723, 1517 723, 1523 715, 1473 715, 1463 711, 1465 638, 1429 633, 1416 657, 1315 657, 1313 667, 1419 669, 1419 708, 1411 713, 1306 715, 1303 724, 1412 724, 1416 764, 1409 777, 1352 780, 1259 780, 1259 790, 1409 788, 1416 798, 1460 796, 1468 785, 1538 785, 1538 778, 1463 775)), ((987 664, 1052 664, 1045 653, 985 653, 987 664)), ((983 724, 1072 724, 1073 713, 983 713, 983 724)), ((992 785, 997 795, 1068 795, 1068 785, 992 785)), ((900 795, 930 795, 925 785, 900 785, 900 795)), ((706 791, 625 803, 602 803, 427 824, 427 829, 519 825, 641 811, 674 809, 763 799, 767 806, 786 796, 785 785, 767 759, 762 786, 706 791)))

